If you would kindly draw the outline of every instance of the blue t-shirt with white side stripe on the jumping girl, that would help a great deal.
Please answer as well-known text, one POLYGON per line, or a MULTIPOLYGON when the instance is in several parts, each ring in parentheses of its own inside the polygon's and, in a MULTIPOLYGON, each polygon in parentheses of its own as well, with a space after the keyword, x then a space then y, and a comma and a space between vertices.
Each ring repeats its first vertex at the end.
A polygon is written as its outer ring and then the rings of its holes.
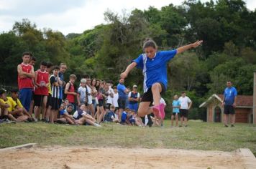
POLYGON ((177 50, 160 51, 155 54, 155 57, 150 59, 147 54, 140 54, 133 62, 137 63, 137 68, 142 69, 144 75, 144 92, 152 87, 155 82, 161 82, 167 89, 167 62, 173 59, 177 50))

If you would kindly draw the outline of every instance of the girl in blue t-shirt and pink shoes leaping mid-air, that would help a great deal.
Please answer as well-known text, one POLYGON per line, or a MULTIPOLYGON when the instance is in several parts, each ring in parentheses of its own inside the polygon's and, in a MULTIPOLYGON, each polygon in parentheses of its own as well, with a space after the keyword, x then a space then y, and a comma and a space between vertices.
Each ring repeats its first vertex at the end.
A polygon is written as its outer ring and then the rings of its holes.
POLYGON ((145 54, 140 54, 137 59, 134 59, 127 69, 120 75, 121 78, 126 78, 129 72, 134 68, 142 69, 144 75, 144 94, 138 109, 138 115, 144 117, 150 113, 154 113, 155 117, 165 117, 164 105, 160 104, 160 95, 167 89, 167 63, 173 59, 175 54, 180 54, 188 49, 198 47, 203 41, 197 41, 193 44, 188 44, 184 47, 170 51, 157 52, 157 45, 152 39, 147 39, 143 44, 145 54), (155 103, 150 107, 152 102, 155 103))

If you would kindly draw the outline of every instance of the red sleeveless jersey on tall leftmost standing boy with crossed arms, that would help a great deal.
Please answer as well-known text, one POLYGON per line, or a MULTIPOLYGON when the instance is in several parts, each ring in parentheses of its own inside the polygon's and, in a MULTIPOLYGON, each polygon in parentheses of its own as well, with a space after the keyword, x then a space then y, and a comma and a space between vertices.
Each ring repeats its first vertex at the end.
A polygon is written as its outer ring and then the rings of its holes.
MULTIPOLYGON (((32 66, 30 64, 19 64, 22 67, 23 72, 30 73, 32 70, 32 66)), ((31 77, 25 77, 25 78, 20 78, 18 74, 18 86, 19 90, 24 89, 24 88, 33 88, 33 83, 32 83, 32 78, 31 77)))

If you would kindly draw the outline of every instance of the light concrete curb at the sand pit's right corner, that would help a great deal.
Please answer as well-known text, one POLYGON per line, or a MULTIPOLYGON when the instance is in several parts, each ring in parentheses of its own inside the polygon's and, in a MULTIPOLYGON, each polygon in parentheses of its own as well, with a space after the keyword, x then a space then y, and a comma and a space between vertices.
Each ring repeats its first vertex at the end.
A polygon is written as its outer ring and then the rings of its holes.
POLYGON ((244 167, 247 169, 255 169, 256 168, 256 158, 255 155, 252 154, 251 150, 248 148, 239 148, 237 149, 237 153, 242 156, 244 159, 244 167))

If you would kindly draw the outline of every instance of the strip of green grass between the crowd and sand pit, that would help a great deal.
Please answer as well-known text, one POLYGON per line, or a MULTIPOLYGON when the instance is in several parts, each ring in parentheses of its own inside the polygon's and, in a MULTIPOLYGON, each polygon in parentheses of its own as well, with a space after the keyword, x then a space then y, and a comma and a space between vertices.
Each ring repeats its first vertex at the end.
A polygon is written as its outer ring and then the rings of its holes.
POLYGON ((232 151, 250 148, 256 155, 256 125, 189 121, 188 127, 134 127, 104 123, 103 127, 50 125, 43 122, 0 125, 0 148, 25 143, 88 145, 118 148, 178 148, 232 151))

